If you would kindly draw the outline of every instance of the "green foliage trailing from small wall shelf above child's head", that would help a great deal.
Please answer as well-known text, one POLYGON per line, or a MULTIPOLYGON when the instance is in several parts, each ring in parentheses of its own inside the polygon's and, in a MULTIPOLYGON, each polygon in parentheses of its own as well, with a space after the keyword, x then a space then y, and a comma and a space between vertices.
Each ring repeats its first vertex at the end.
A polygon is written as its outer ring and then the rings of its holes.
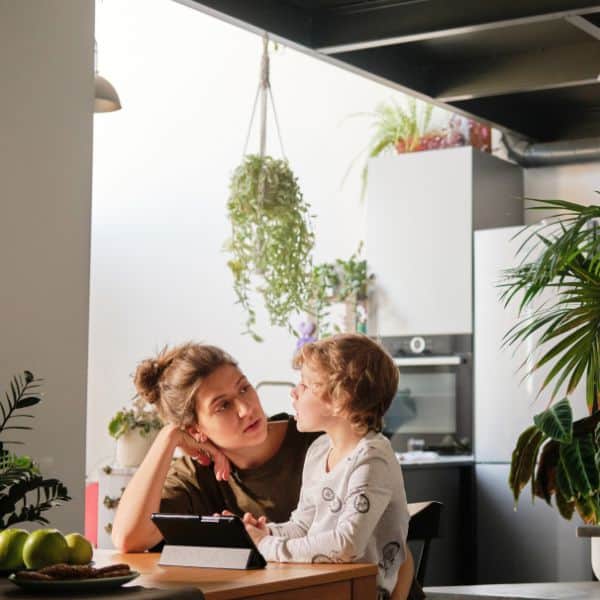
POLYGON ((366 311, 364 305, 373 275, 367 273, 367 261, 360 258, 361 251, 362 242, 348 260, 337 258, 313 268, 312 313, 317 322, 318 337, 325 337, 339 330, 329 320, 329 308, 332 304, 350 300, 355 306, 362 304, 366 311))

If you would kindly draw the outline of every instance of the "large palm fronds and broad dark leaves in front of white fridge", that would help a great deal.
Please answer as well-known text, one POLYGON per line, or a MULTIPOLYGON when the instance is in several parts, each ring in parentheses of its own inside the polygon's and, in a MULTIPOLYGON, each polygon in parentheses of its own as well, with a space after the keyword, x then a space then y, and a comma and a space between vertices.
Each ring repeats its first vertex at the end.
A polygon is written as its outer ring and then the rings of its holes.
POLYGON ((600 206, 533 202, 534 210, 556 213, 524 230, 524 259, 505 273, 503 299, 519 302, 522 316, 505 342, 529 340, 540 350, 528 373, 548 369, 540 393, 550 391, 549 407, 520 435, 509 484, 515 502, 531 481, 534 496, 551 504, 554 495, 566 519, 577 510, 586 523, 599 523, 600 206), (573 422, 568 396, 582 381, 588 416, 573 422), (566 397, 556 401, 562 389, 566 397))

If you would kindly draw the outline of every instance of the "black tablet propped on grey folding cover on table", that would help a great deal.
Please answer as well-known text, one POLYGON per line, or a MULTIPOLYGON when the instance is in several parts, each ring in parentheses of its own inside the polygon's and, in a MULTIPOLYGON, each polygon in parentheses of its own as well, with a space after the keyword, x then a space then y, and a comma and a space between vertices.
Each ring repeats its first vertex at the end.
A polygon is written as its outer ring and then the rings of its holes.
POLYGON ((266 565, 239 517, 153 513, 165 539, 159 564, 256 569, 266 565))

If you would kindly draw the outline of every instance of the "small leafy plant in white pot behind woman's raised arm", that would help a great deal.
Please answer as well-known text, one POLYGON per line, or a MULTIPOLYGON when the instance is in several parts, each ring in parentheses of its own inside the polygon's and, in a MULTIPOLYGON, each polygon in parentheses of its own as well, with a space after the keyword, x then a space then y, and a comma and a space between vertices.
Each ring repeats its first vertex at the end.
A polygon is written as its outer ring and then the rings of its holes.
POLYGON ((131 408, 119 410, 108 424, 108 433, 117 440, 117 464, 139 466, 162 426, 156 411, 145 408, 139 396, 131 408))

